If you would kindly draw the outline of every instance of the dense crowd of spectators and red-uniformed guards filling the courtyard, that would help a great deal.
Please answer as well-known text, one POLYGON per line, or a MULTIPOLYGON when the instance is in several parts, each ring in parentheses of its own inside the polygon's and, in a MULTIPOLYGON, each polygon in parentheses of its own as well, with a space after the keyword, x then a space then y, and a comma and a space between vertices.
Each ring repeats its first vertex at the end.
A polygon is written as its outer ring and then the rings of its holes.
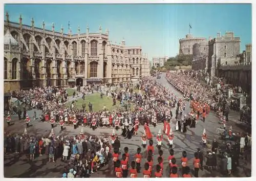
MULTIPOLYGON (((167 73, 166 79, 182 93, 181 97, 175 95, 153 77, 146 77, 140 81, 139 93, 135 93, 130 84, 125 85, 121 90, 112 93, 109 90, 110 92, 106 93, 106 96, 113 97, 113 105, 114 100, 122 102, 122 107, 113 111, 104 107, 99 112, 93 112, 89 105, 90 110, 87 110, 86 106, 78 108, 73 103, 67 107, 65 102, 68 101, 68 95, 62 88, 45 87, 14 92, 13 97, 22 101, 26 108, 42 110, 41 120, 50 123, 51 133, 44 136, 29 135, 25 129, 23 134, 6 134, 5 152, 29 153, 31 161, 35 155, 40 156, 43 153, 49 156, 49 162, 61 159, 66 163, 62 177, 90 177, 106 164, 113 165, 115 177, 137 177, 141 168, 144 178, 162 177, 163 174, 167 174, 169 177, 192 177, 188 167, 188 153, 185 150, 180 155, 180 162, 176 163, 173 146, 176 144, 175 134, 179 134, 178 132, 183 134, 187 132, 187 129, 195 128, 200 120, 205 122, 207 115, 212 109, 215 109, 217 102, 212 99, 213 92, 200 87, 201 85, 196 83, 191 76, 167 73), (134 109, 123 106, 125 103, 132 104, 134 109), (186 110, 186 104, 190 105, 191 110, 186 110), (185 114, 185 112, 188 113, 185 114), (59 135, 54 133, 56 123, 61 127, 59 135), (73 125, 74 129, 80 128, 80 134, 64 137, 63 127, 69 125, 73 125), (107 137, 97 138, 95 135, 88 135, 83 131, 86 129, 96 130, 98 127, 111 129, 112 133, 107 137), (151 131, 153 127, 160 128, 158 132, 155 132, 156 137, 151 131), (140 135, 139 128, 140 130, 143 128, 142 135, 140 135), (124 150, 120 149, 122 142, 118 137, 132 139, 134 135, 141 136, 142 147, 139 147, 136 154, 132 156, 128 147, 124 147, 124 150), (167 143, 165 143, 165 139, 167 143), (169 147, 168 173, 164 173, 163 169, 163 163, 167 158, 166 153, 163 154, 163 144, 167 144, 169 147), (25 152, 26 150, 28 152, 25 152), (121 154, 122 152, 123 154, 121 154), (157 161, 153 161, 154 154, 159 154, 157 161), (143 159, 145 159, 145 164, 141 165, 143 159), (67 166, 67 162, 69 166, 67 166), (181 171, 179 171, 179 167, 181 171)), ((26 126, 29 127, 30 118, 26 108, 23 110, 24 120, 26 126)), ((10 120, 10 117, 8 114, 6 120, 10 120)), ((239 153, 248 152, 251 143, 250 135, 243 134, 241 138, 246 138, 247 141, 244 147, 242 142, 242 144, 239 143, 240 147, 241 145, 243 147, 239 153)), ((200 142, 202 148, 198 148, 198 152, 193 153, 195 159, 192 167, 195 170, 193 173, 195 177, 198 177, 199 169, 203 169, 201 150, 206 148, 210 142, 205 128, 202 130, 200 142)), ((237 144, 226 144, 224 148, 219 148, 219 152, 223 153, 222 156, 227 160, 227 172, 224 174, 231 173, 229 172, 231 161, 228 158, 231 155, 237 156, 238 147, 237 144)), ((217 163, 212 159, 212 154, 217 154, 217 148, 218 146, 214 151, 207 151, 206 166, 210 169, 217 167, 217 163)), ((236 156, 233 156, 232 159, 235 159, 236 156)), ((238 166, 237 160, 234 162, 238 166)))

